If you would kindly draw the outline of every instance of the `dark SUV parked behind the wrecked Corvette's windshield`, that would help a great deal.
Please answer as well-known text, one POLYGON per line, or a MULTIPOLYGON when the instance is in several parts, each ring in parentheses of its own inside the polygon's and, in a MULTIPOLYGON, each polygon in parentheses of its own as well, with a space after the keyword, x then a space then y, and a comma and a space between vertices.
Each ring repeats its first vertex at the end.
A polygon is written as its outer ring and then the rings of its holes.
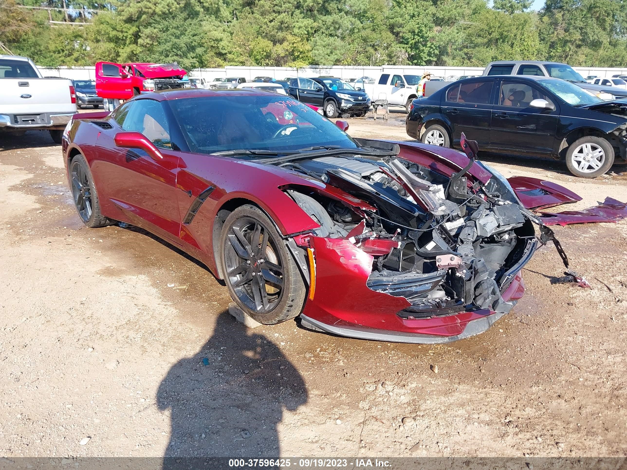
POLYGON ((363 116, 370 109, 370 98, 350 83, 335 77, 290 78, 290 95, 324 110, 328 118, 339 114, 363 116))

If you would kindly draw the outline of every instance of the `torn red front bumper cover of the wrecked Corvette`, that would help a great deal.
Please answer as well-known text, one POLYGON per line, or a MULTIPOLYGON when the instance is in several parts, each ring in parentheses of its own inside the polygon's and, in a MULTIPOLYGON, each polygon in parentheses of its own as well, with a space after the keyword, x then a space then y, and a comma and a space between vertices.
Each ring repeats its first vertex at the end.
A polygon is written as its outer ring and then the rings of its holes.
MULTIPOLYGON (((403 343, 448 343, 485 332, 503 312, 468 308, 453 315, 403 318, 411 306, 404 297, 371 290, 367 279, 372 256, 347 239, 310 238, 315 253, 316 288, 300 315, 302 326, 352 338, 403 343), (338 286, 342 286, 341 292, 338 286)), ((503 301, 514 305, 525 290, 520 269, 537 248, 529 241, 525 256, 503 276, 503 301), (507 281, 505 281, 507 278, 507 281)))

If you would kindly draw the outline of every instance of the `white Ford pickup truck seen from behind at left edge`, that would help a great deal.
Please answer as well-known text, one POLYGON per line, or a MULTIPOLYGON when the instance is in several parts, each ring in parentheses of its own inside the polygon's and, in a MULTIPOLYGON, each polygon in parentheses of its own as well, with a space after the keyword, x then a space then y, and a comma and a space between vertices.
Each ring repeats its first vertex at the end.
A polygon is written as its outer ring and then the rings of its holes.
POLYGON ((61 144, 63 129, 75 113, 70 80, 43 78, 30 59, 0 55, 0 132, 48 130, 61 144))

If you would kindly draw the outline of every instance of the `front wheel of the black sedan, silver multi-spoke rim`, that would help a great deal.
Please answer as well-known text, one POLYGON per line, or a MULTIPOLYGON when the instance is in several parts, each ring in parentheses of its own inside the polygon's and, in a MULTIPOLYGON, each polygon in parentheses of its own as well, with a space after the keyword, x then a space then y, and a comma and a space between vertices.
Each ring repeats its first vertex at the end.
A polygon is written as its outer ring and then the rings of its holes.
POLYGON ((586 135, 568 147, 566 166, 569 172, 581 178, 596 178, 605 174, 614 164, 614 149, 603 137, 586 135))

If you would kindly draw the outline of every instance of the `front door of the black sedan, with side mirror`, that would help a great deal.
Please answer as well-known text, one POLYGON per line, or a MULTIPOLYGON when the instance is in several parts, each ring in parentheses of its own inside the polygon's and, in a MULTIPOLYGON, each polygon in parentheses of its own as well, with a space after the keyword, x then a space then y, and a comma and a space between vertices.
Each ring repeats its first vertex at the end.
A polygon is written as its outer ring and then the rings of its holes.
POLYGON ((490 122, 490 148, 515 153, 551 154, 556 144, 559 105, 539 86, 501 80, 490 122), (547 100, 554 110, 529 106, 535 99, 547 100))

